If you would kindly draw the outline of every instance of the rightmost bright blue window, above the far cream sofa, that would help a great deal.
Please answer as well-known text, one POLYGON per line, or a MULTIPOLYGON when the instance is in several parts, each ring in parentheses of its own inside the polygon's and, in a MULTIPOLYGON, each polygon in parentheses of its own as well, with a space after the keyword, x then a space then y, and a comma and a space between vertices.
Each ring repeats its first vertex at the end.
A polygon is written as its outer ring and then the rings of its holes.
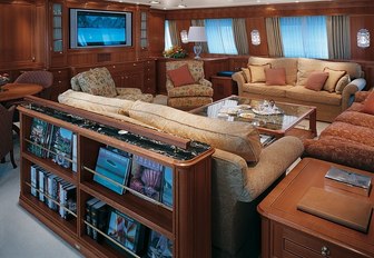
POLYGON ((280 34, 287 58, 328 58, 326 17, 283 17, 280 34))

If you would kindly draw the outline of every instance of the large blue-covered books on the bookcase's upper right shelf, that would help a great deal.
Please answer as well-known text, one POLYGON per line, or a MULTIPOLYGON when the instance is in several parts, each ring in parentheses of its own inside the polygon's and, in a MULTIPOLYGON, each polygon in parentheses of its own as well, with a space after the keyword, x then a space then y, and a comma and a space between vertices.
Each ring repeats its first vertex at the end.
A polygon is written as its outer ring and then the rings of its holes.
POLYGON ((94 180, 122 195, 127 186, 173 207, 173 169, 111 147, 99 149, 94 180))

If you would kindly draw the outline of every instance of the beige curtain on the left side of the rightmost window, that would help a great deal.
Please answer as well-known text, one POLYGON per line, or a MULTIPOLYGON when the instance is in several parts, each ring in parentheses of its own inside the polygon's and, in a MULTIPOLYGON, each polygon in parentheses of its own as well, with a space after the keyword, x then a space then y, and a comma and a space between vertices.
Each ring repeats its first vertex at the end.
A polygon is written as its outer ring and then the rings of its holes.
POLYGON ((266 18, 267 47, 270 57, 283 57, 280 22, 278 17, 266 18))

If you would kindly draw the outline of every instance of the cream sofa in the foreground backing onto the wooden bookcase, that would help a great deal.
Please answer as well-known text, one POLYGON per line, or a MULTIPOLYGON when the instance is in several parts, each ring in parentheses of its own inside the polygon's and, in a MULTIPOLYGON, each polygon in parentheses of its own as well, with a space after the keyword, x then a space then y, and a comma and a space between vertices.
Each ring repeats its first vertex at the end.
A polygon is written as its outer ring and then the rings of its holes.
POLYGON ((214 147, 213 257, 258 257, 260 220, 256 206, 302 155, 301 140, 284 137, 263 149, 258 131, 249 123, 199 117, 142 101, 108 101, 72 90, 60 95, 59 102, 214 147))

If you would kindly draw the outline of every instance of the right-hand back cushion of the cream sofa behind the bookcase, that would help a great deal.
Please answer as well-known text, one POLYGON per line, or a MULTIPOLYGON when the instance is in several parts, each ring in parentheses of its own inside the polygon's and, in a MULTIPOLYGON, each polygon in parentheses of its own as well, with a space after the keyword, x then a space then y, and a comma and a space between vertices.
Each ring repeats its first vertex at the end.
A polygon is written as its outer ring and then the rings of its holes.
POLYGON ((167 106, 140 101, 135 102, 129 116, 168 133, 234 152, 247 161, 257 162, 259 159, 259 135, 250 123, 200 117, 167 106))

